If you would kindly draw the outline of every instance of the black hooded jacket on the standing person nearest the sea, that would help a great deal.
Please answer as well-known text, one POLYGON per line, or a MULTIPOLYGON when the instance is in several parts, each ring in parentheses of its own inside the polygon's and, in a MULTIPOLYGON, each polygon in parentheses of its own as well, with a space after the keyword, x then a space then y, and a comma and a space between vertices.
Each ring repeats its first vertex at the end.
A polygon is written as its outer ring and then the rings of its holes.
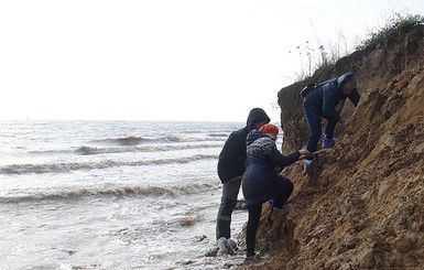
POLYGON ((246 123, 246 127, 231 132, 219 154, 218 176, 221 183, 233 177, 242 176, 246 162, 246 137, 254 128, 256 123, 269 122, 271 119, 261 108, 253 108, 246 123))

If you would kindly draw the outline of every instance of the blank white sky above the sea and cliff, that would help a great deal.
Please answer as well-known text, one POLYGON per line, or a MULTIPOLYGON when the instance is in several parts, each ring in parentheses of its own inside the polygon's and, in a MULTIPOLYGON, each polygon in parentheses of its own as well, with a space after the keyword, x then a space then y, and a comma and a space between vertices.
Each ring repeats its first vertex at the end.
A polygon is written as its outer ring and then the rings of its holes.
POLYGON ((0 120, 279 121, 306 45, 351 52, 395 12, 424 2, 1 0, 0 120))

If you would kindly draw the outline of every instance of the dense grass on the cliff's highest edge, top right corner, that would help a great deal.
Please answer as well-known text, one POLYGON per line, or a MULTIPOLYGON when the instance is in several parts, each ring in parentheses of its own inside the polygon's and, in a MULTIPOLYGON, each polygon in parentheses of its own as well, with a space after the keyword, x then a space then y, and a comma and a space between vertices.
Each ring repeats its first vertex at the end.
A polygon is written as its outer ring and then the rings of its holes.
POLYGON ((374 46, 394 35, 403 28, 411 28, 424 23, 424 17, 416 14, 393 14, 384 25, 368 32, 367 37, 356 46, 356 50, 365 50, 374 46))

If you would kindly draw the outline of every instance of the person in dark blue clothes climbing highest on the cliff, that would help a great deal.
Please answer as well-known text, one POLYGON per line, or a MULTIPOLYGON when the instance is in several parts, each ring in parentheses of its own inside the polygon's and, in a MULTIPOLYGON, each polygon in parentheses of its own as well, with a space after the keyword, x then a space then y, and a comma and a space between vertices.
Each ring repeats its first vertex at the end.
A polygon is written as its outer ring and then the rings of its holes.
MULTIPOLYGON (((337 139, 334 138, 336 125, 345 122, 336 110, 336 106, 340 101, 346 100, 346 98, 349 98, 356 107, 360 99, 360 95, 357 90, 356 75, 351 72, 345 73, 339 77, 314 86, 303 96, 303 111, 311 134, 306 149, 311 153, 317 150, 322 137, 322 118, 327 119, 323 139, 323 149, 333 148, 337 141, 337 139)), ((312 162, 313 158, 305 160, 305 172, 307 172, 312 162)))

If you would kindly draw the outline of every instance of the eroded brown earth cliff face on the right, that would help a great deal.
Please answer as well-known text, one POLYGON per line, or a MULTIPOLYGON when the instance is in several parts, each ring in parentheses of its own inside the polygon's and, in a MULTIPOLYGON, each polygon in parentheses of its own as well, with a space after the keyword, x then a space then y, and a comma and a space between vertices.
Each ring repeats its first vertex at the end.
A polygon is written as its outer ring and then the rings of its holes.
POLYGON ((307 128, 300 90, 352 71, 361 100, 347 101, 336 148, 322 155, 316 185, 303 163, 283 174, 295 185, 258 245, 270 257, 249 269, 424 269, 424 25, 400 30, 307 82, 281 89, 283 152, 302 148, 307 128))

